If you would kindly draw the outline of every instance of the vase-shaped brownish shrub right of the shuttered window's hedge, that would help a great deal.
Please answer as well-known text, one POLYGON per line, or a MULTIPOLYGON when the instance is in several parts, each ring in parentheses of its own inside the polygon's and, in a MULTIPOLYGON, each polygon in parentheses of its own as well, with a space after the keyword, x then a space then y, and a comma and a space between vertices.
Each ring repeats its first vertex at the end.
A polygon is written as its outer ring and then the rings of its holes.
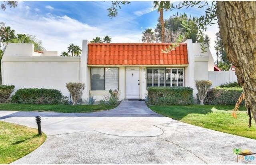
POLYGON ((197 95, 201 105, 204 105, 204 98, 211 86, 212 82, 210 80, 196 80, 197 95))

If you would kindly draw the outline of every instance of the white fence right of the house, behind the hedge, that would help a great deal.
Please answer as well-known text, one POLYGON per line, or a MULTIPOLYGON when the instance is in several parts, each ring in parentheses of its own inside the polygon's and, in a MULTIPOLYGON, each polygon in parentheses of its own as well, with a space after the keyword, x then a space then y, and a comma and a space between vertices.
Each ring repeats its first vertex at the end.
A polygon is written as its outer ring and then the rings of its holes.
POLYGON ((209 71, 208 80, 212 81, 212 87, 219 86, 223 83, 237 82, 235 71, 209 71))

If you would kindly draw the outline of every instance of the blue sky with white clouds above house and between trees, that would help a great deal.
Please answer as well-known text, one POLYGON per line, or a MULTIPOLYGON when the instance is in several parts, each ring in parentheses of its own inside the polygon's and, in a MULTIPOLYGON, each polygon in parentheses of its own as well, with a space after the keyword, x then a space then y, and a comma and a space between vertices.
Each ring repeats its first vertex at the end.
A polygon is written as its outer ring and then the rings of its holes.
MULTIPOLYGON (((153 1, 131 1, 112 19, 107 16, 110 5, 110 1, 19 1, 17 8, 0 10, 0 20, 16 34, 34 35, 42 40, 46 50, 59 54, 67 51, 71 43, 82 47, 82 40, 91 41, 96 36, 108 35, 112 42, 141 42, 141 33, 146 28, 156 28, 159 13, 153 9, 153 1)), ((201 16, 204 9, 166 11, 164 19, 176 12, 201 16)), ((206 31, 214 59, 217 59, 214 40, 218 31, 217 24, 206 31)))

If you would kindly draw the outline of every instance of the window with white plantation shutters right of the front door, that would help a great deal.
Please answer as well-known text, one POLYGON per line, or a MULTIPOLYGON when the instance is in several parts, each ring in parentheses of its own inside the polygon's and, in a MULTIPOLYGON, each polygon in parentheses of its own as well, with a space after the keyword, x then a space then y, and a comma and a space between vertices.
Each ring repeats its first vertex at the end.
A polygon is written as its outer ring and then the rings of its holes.
POLYGON ((147 68, 147 86, 184 86, 184 68, 147 68))

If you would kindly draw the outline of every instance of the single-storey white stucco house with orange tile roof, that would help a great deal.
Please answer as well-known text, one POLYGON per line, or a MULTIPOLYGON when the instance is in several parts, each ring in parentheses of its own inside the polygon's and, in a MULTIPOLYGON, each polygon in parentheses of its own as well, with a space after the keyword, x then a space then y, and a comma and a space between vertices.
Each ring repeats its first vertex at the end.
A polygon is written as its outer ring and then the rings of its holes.
POLYGON ((119 99, 144 99, 147 87, 188 86, 208 80, 214 71, 210 50, 201 53, 200 43, 186 40, 168 54, 162 43, 82 42, 81 57, 61 57, 57 52, 35 52, 33 44, 9 43, 2 58, 2 83, 20 88, 53 88, 66 96, 67 82, 83 82, 83 98, 103 99, 109 89, 119 99))

